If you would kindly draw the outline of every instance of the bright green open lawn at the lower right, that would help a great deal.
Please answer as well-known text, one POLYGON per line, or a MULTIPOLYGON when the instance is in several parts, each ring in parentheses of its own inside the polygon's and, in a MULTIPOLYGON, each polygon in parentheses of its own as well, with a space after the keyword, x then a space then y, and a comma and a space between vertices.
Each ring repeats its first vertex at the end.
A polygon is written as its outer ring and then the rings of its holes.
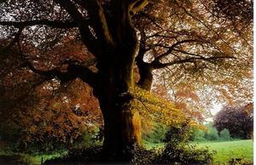
POLYGON ((198 147, 208 146, 210 150, 217 151, 213 156, 214 164, 228 164, 231 158, 243 158, 247 163, 253 162, 253 140, 236 140, 224 142, 199 143, 198 147))

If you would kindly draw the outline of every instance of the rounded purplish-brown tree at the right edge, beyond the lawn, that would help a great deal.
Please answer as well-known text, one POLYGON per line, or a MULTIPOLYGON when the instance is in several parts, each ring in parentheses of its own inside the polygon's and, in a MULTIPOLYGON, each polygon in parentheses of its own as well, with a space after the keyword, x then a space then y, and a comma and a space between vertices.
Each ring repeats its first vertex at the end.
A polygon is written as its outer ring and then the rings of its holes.
POLYGON ((250 139, 253 134, 253 103, 243 106, 225 106, 214 117, 214 126, 220 133, 224 128, 232 138, 250 139))

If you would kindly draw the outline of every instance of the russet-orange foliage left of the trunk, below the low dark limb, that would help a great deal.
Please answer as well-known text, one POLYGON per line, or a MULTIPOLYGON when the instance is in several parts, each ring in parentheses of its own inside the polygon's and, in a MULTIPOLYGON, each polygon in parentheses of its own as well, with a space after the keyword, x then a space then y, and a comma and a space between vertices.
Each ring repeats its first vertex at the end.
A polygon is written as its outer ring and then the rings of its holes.
MULTIPOLYGON (((32 77, 29 71, 22 73, 32 77)), ((15 144, 16 149, 52 151, 78 143, 83 145, 78 140, 84 134, 93 134, 96 127, 102 127, 98 102, 91 88, 79 80, 64 87, 52 80, 26 91, 28 83, 20 84, 14 79, 10 83, 9 79, 6 77, 5 86, 1 86, 3 91, 13 92, 1 96, 9 102, 1 104, 4 111, 1 111, 0 129, 2 139, 15 144)))

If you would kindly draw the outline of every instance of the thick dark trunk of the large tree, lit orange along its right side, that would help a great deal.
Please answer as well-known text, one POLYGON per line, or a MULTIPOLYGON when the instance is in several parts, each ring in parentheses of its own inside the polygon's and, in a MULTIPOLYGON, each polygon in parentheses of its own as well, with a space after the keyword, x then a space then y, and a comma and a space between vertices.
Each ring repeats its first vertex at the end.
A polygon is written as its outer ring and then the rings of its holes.
POLYGON ((96 97, 104 119, 103 153, 109 160, 130 161, 140 144, 140 117, 132 107, 137 31, 131 25, 128 1, 119 2, 115 43, 106 44, 97 62, 96 97))

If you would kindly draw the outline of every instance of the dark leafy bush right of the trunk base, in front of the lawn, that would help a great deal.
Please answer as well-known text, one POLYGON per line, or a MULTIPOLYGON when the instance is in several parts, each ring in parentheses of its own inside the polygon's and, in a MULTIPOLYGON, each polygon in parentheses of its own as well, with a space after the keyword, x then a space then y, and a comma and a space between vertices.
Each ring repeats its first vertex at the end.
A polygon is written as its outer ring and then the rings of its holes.
POLYGON ((192 128, 189 122, 172 126, 166 134, 166 145, 154 159, 154 163, 170 164, 210 164, 214 152, 207 148, 197 149, 189 144, 192 128))

